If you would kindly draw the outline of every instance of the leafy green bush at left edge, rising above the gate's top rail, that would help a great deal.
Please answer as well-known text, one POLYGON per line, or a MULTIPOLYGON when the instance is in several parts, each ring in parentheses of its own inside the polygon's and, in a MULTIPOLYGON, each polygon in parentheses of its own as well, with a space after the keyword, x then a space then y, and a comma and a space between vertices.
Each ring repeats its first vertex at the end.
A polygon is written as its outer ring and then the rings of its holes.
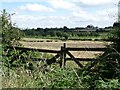
POLYGON ((21 31, 19 28, 15 27, 12 24, 11 16, 13 14, 8 14, 5 9, 0 14, 0 23, 1 23, 1 31, 2 32, 2 46, 12 46, 12 45, 20 45, 18 40, 21 38, 21 31))

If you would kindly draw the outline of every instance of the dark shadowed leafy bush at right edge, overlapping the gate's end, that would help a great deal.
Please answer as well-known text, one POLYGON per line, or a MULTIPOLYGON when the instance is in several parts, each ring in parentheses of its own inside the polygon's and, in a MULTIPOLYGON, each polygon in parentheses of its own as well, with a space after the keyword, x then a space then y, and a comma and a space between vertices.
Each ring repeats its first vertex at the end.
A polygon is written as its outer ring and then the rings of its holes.
MULTIPOLYGON (((112 43, 107 46, 106 51, 97 60, 86 67, 88 71, 97 70, 99 72, 97 76, 104 81, 117 79, 120 82, 120 23, 114 23, 113 27, 109 36, 112 43)), ((96 73, 94 74, 96 75, 96 73)))

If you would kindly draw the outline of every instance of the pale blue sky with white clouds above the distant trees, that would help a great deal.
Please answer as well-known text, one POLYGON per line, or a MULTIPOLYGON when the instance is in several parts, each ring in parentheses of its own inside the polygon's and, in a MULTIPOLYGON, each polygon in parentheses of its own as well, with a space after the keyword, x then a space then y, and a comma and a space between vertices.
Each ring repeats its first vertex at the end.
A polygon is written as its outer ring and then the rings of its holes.
POLYGON ((112 26, 118 0, 0 0, 19 28, 112 26))

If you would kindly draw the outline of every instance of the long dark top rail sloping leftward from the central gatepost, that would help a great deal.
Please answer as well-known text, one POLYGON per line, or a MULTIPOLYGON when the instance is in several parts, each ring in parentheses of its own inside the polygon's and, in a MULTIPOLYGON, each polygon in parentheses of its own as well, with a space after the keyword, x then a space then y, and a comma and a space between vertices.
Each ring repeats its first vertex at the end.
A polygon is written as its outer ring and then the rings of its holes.
MULTIPOLYGON (((13 47, 7 47, 9 49, 13 49, 13 47)), ((38 52, 46 52, 46 53, 59 53, 60 50, 47 50, 47 49, 35 49, 35 48, 25 48, 25 47, 14 47, 16 50, 23 51, 38 51, 38 52)))

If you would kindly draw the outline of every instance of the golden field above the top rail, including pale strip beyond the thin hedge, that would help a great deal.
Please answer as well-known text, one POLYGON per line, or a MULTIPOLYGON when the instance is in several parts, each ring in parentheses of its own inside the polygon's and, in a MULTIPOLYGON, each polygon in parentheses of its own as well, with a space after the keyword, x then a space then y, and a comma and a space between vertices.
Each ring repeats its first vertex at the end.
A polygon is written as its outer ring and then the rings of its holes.
POLYGON ((63 43, 66 43, 67 47, 104 47, 109 42, 104 41, 55 41, 51 39, 35 39, 25 38, 25 41, 20 41, 25 47, 42 48, 42 49, 55 49, 59 50, 63 43))

